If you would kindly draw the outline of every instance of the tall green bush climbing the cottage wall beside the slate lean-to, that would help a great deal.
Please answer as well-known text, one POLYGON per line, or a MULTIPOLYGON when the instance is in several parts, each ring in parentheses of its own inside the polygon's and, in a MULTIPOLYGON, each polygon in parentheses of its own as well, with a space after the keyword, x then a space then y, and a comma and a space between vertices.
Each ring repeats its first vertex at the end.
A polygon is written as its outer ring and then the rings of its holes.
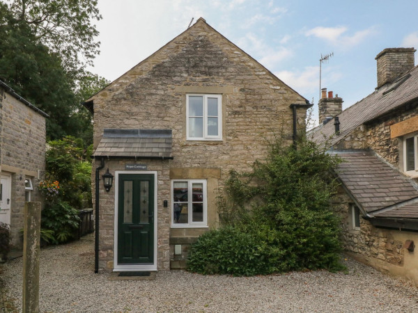
MULTIPOLYGON (((249 241, 258 247, 254 258, 263 255, 265 262, 256 273, 341 269, 339 218, 330 207, 338 186, 331 170, 339 158, 304 139, 297 150, 281 141, 270 148, 268 158, 257 161, 250 173, 230 173, 218 199, 222 223, 254 239, 249 241)), ((198 242, 189 257, 192 271, 205 273, 205 266, 195 264, 217 264, 228 257, 231 264, 241 264, 237 273, 255 273, 240 262, 242 251, 218 250, 206 262, 208 245, 198 242)))

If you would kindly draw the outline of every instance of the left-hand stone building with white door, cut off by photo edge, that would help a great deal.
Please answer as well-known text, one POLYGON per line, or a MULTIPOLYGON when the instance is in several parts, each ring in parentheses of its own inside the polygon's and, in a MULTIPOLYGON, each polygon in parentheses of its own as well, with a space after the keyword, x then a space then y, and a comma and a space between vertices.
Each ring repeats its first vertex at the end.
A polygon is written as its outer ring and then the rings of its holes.
POLYGON ((12 244, 22 246, 24 202, 40 201, 38 179, 45 172, 45 118, 0 81, 0 221, 10 225, 12 244))

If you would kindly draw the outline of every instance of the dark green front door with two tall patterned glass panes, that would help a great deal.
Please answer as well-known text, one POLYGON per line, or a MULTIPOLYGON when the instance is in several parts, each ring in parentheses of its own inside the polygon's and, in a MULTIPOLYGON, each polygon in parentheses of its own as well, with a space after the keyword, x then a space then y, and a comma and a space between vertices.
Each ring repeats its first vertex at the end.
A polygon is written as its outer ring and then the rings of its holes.
POLYGON ((154 175, 121 174, 118 184, 118 264, 153 264, 154 175))

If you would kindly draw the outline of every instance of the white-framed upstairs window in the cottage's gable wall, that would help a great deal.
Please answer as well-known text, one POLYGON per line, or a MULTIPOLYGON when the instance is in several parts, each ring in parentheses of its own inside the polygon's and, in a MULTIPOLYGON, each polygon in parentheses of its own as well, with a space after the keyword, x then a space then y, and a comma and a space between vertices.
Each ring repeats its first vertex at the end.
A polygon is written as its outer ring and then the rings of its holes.
POLYGON ((187 140, 222 140, 222 95, 187 95, 187 140))

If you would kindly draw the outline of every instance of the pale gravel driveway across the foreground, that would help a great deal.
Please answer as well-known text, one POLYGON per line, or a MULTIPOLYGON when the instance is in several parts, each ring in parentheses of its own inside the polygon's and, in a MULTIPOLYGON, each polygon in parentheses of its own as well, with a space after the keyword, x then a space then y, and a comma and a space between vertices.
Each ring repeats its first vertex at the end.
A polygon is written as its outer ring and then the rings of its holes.
MULTIPOLYGON (((151 281, 108 280, 109 273, 93 273, 87 236, 41 250, 40 312, 418 312, 417 287, 350 258, 343 263, 346 273, 233 278, 161 271, 151 281)), ((3 264, 1 276, 22 310, 22 258, 3 264)))

